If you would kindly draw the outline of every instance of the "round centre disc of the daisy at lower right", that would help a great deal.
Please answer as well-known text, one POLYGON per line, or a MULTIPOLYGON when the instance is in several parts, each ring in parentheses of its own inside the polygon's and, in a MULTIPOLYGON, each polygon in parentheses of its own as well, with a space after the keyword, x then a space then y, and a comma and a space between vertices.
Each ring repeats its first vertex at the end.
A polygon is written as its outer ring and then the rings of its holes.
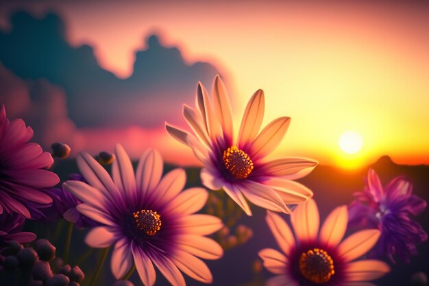
POLYGON ((301 254, 299 271, 312 283, 326 283, 334 275, 334 261, 325 250, 313 248, 301 254))

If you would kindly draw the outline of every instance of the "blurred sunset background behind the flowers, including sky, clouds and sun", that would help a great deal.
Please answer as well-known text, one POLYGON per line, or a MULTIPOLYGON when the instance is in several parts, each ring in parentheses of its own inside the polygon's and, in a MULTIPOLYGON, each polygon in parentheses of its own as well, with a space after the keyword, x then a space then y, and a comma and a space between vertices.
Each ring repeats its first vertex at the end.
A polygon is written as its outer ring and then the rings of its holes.
MULTIPOLYGON (((1 1, 0 102, 46 150, 67 143, 73 157, 122 143, 137 159, 156 147, 189 171, 197 160, 164 121, 186 128, 182 104, 197 82, 210 92, 221 75, 237 133, 261 88, 264 124, 292 118, 273 156, 319 160, 302 182, 326 217, 363 189, 369 166, 384 184, 407 176, 428 200, 428 35, 428 1, 1 1)), ((60 175, 75 167, 63 164, 60 175)), ((252 238, 209 263, 214 285, 269 276, 253 263, 274 241, 253 209, 240 221, 252 238)), ((428 232, 427 209, 417 221, 428 232)), ((427 241, 417 249, 379 285, 428 274, 427 241)))

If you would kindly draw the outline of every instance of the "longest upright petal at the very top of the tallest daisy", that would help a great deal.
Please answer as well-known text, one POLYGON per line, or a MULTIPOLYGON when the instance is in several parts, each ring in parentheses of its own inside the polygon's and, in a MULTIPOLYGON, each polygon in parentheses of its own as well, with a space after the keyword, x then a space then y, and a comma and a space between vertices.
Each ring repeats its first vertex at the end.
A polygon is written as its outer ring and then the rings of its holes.
POLYGON ((216 75, 215 85, 213 86, 213 105, 215 106, 217 117, 221 122, 223 133, 233 138, 230 98, 219 75, 216 75))

